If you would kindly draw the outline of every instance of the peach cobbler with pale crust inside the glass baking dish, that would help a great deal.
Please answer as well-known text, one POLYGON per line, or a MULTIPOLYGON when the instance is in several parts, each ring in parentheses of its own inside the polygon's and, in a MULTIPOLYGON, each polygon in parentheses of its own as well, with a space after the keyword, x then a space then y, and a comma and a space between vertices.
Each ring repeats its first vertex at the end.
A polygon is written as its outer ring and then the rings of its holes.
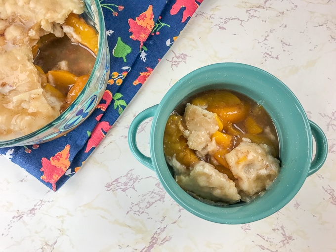
POLYGON ((81 0, 0 1, 0 140, 50 123, 92 71, 98 33, 81 0))

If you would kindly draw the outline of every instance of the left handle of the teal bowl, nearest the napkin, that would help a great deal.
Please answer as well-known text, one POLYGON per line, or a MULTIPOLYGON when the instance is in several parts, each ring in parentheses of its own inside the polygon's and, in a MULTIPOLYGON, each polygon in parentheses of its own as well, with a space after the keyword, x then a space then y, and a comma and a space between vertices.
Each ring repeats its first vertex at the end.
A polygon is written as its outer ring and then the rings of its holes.
POLYGON ((154 105, 148 109, 145 109, 140 114, 138 114, 133 122, 130 124, 128 129, 128 145, 133 154, 133 156, 140 161, 141 164, 145 165, 146 167, 154 170, 152 159, 150 157, 145 156, 142 152, 138 149, 136 144, 136 132, 140 124, 145 121, 147 118, 153 117, 159 104, 154 105))

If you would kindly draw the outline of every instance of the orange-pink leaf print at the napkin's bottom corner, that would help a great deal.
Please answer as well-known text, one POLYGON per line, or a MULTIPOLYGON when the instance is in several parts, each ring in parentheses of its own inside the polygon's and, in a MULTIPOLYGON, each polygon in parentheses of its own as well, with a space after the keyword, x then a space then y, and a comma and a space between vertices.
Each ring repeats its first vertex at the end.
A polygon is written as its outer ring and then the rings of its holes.
POLYGON ((67 144, 65 148, 51 157, 50 160, 42 158, 43 175, 41 179, 52 184, 52 190, 56 191, 56 182, 66 172, 70 166, 70 145, 67 144))

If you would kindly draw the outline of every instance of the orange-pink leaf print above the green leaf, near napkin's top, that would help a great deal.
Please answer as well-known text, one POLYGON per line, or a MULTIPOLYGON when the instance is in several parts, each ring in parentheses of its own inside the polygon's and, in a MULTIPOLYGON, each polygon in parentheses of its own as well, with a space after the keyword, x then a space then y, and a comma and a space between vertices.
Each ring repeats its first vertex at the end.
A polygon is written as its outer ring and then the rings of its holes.
POLYGON ((140 49, 143 46, 143 42, 145 42, 153 30, 154 27, 154 14, 153 14, 153 6, 149 5, 148 9, 145 12, 142 12, 135 20, 128 19, 129 24, 129 32, 132 33, 129 38, 132 40, 137 40, 140 42, 140 49))

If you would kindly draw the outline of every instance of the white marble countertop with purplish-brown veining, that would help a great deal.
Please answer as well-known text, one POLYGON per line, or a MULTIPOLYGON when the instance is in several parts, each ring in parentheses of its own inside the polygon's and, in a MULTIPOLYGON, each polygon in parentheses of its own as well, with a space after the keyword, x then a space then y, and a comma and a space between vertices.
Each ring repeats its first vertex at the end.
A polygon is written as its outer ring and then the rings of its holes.
MULTIPOLYGON (((336 251, 336 1, 204 0, 106 138, 57 192, 0 157, 0 251, 336 251), (329 155, 273 215, 222 225, 182 209, 131 155, 127 131, 177 80, 240 62, 278 77, 325 131, 329 155)), ((139 133, 149 155, 150 120, 139 133)))

